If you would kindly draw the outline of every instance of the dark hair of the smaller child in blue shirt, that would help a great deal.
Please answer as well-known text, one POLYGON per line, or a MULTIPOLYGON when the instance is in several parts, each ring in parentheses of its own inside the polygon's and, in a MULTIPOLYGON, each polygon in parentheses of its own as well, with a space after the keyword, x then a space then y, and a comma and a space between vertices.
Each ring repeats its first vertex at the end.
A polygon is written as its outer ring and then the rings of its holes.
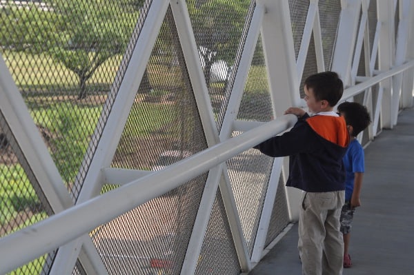
POLYGON ((357 102, 342 102, 337 107, 338 112, 344 114, 346 125, 351 125, 353 131, 351 136, 357 136, 371 123, 371 116, 364 105, 357 102))

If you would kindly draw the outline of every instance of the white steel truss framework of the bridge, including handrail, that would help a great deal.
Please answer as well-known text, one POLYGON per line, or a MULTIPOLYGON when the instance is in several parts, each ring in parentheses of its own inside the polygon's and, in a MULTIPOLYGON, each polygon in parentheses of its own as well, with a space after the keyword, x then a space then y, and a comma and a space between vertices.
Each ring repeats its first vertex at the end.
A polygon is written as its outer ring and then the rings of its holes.
MULTIPOLYGON (((414 2, 398 1, 399 10, 396 10, 396 3, 397 1, 376 1, 377 26, 375 26, 374 41, 369 41, 370 1, 341 1, 342 11, 331 70, 339 72, 346 85, 342 101, 353 101, 355 96, 363 96, 364 105, 373 116, 373 123, 368 131, 369 141, 379 134, 378 128, 393 128, 397 123, 399 110, 413 104, 414 2), (394 33, 395 17, 399 19, 397 34, 394 33), (372 48, 370 43, 373 45, 372 48), (366 75, 359 76, 357 71, 362 53, 364 53, 366 75), (375 70, 376 63, 378 70, 375 70), (377 88, 376 96, 373 96, 374 87, 377 88)), ((239 265, 244 272, 252 269, 264 256, 266 250, 268 223, 275 202, 279 177, 282 176, 283 179, 283 174, 287 173, 287 167, 284 165, 286 159, 279 158, 273 163, 264 207, 259 216, 259 230, 255 236, 251 255, 248 252, 231 190, 226 161, 270 136, 288 130, 295 123, 294 116, 284 116, 283 112, 290 105, 304 107, 304 101, 299 94, 299 85, 306 65, 311 34, 315 43, 317 70, 321 72, 329 69, 324 65, 324 43, 318 4, 317 0, 310 1, 302 43, 296 59, 288 1, 257 0, 255 2, 242 59, 235 75, 235 85, 219 131, 208 97, 208 88, 186 1, 153 0, 132 53, 132 61, 121 82, 102 137, 97 144, 98 149, 85 175, 85 182, 75 205, 63 187, 55 163, 39 136, 39 131, 30 117, 17 86, 12 81, 5 62, 1 59, 1 113, 10 125, 14 136, 17 136, 17 141, 56 214, 0 239, 0 273, 10 272, 34 258, 59 248, 50 274, 71 274, 78 258, 88 274, 106 274, 106 268, 88 233, 102 223, 111 221, 120 214, 204 172, 208 172, 208 179, 181 274, 195 272, 217 190, 220 190, 224 201, 239 265), (135 94, 130 91, 137 91, 139 88, 169 7, 184 52, 208 149, 159 172, 111 168, 110 163, 135 98, 135 94), (258 39, 262 39, 263 43, 268 86, 275 117, 274 121, 265 125, 254 121, 237 121, 237 113, 258 39), (241 131, 243 134, 231 137, 235 131, 241 131), (121 187, 100 195, 99 190, 103 183, 114 179, 117 179, 118 183, 121 182, 121 187), (112 203, 108 205, 107 201, 112 203)), ((362 140, 362 136, 359 136, 359 140, 362 140)), ((290 221, 296 221, 300 192, 286 189, 286 194, 290 221)))

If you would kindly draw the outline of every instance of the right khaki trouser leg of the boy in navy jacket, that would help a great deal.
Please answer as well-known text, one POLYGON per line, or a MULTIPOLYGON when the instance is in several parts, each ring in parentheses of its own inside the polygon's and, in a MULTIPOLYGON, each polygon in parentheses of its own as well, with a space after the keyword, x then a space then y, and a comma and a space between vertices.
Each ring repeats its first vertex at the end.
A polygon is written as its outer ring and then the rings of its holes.
POLYGON ((333 192, 335 203, 326 215, 324 241, 323 274, 342 274, 344 268, 344 237, 340 232, 339 216, 344 205, 344 192, 333 192))

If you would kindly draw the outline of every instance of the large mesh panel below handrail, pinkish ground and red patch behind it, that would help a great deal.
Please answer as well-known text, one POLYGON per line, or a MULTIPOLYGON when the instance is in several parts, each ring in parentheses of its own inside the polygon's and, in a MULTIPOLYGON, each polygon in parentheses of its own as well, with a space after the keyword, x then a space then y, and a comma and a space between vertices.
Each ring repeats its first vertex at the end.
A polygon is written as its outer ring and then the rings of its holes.
MULTIPOLYGON (((199 176, 193 185, 205 181, 206 176, 199 176)), ((179 274, 199 199, 199 189, 181 188, 91 232, 108 273, 179 274)))

